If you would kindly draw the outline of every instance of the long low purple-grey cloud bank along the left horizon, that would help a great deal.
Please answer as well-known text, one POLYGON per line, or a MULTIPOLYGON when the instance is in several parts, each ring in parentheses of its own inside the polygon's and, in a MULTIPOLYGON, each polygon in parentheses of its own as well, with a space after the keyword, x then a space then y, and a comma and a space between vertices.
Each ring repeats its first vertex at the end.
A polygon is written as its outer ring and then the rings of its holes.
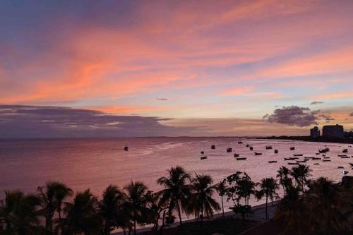
POLYGON ((0 138, 183 135, 195 129, 161 123, 169 120, 68 107, 0 105, 0 138))

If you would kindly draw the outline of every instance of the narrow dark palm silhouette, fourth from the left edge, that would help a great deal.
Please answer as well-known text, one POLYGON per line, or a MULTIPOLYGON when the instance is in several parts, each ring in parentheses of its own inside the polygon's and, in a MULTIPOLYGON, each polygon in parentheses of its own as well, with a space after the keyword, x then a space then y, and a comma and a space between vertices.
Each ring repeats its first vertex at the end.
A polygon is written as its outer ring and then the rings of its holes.
POLYGON ((100 201, 100 215, 104 219, 104 235, 110 234, 110 231, 119 227, 118 221, 119 217, 121 217, 123 203, 124 193, 118 187, 109 185, 104 190, 100 201))

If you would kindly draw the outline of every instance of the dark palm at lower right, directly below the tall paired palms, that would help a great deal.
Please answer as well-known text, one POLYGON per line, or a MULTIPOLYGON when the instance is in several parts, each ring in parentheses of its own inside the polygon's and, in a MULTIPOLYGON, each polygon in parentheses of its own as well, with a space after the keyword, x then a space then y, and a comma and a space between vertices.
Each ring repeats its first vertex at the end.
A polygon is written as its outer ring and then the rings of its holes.
POLYGON ((275 211, 274 219, 284 224, 284 234, 308 234, 309 209, 299 192, 299 186, 289 185, 275 211))

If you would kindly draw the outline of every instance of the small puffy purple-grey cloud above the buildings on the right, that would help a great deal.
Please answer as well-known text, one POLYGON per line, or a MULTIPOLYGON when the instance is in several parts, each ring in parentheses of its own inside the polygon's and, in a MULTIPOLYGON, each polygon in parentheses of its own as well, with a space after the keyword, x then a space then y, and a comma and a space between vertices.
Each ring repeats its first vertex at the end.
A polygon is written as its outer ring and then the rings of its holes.
POLYGON ((289 126, 310 126, 318 124, 316 114, 320 111, 311 111, 309 108, 288 106, 275 109, 273 114, 263 116, 270 123, 282 123, 289 126))

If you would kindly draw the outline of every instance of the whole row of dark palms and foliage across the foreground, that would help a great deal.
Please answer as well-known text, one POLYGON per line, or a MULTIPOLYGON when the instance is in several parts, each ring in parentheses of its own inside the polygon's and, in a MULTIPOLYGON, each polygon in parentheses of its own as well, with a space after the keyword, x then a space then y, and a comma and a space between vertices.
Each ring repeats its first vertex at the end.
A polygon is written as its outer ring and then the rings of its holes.
POLYGON ((304 165, 280 167, 278 183, 273 178, 256 183, 237 171, 213 184, 211 176, 191 176, 177 166, 157 179, 161 191, 152 192, 143 182, 131 181, 122 189, 109 185, 101 197, 89 189, 73 195, 64 183, 49 181, 37 193, 5 192, 0 201, 0 234, 108 235, 114 229, 136 234, 137 224, 152 225, 146 234, 238 234, 258 224, 246 220, 253 213, 249 198, 265 198, 265 218, 270 219, 269 202, 279 198, 280 186, 284 196, 270 222, 280 222, 285 234, 352 234, 353 188, 325 178, 308 179, 310 172, 304 165), (231 209, 242 219, 225 217, 223 198, 234 204, 231 209), (221 209, 221 218, 208 219, 221 209), (183 213, 196 221, 183 223, 183 213), (176 215, 179 227, 167 229, 176 215))

